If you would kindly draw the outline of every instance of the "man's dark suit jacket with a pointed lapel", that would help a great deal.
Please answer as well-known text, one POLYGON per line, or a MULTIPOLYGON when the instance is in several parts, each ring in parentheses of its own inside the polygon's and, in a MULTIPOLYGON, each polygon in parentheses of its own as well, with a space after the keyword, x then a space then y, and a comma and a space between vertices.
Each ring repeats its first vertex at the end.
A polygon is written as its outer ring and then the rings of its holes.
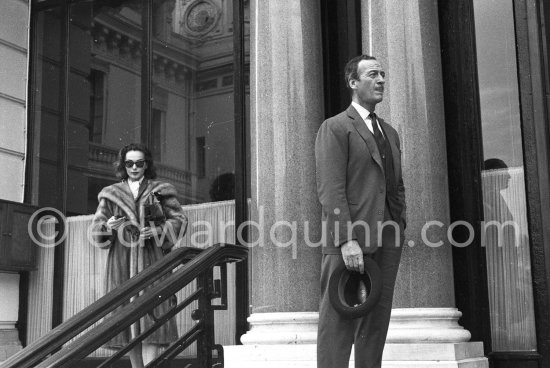
MULTIPOLYGON (((405 189, 399 136, 382 119, 378 118, 378 122, 393 155, 397 192, 403 206, 399 224, 402 241, 405 189)), ((352 239, 358 241, 363 252, 373 253, 378 245, 378 224, 384 221, 386 180, 374 136, 353 106, 323 122, 317 133, 315 158, 317 191, 327 232, 323 253, 341 254, 338 247, 352 239)))

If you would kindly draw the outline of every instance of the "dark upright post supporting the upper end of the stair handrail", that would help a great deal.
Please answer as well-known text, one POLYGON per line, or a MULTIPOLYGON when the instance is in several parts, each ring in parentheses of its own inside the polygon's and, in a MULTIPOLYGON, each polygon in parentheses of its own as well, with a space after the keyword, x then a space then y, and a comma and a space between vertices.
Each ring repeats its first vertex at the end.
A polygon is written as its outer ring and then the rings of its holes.
POLYGON ((212 368, 212 350, 214 348, 214 313, 212 309, 212 292, 214 288, 212 268, 197 277, 197 287, 204 290, 199 296, 200 321, 203 333, 197 339, 197 360, 199 368, 212 368))

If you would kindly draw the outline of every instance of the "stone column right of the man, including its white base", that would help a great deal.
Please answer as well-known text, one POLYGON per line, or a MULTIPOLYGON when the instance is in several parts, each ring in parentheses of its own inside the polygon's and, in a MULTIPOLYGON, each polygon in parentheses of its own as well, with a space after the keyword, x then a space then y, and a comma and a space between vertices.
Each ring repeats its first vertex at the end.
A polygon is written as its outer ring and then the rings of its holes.
POLYGON ((377 57, 387 73, 377 110, 401 137, 408 208, 385 363, 488 366, 482 343, 467 342, 470 333, 458 325, 455 308, 437 1, 363 0, 361 10, 364 53, 377 57), (438 224, 426 227, 431 221, 438 224), (414 355, 399 353, 410 347, 414 355), (444 351, 451 354, 432 354, 444 351))

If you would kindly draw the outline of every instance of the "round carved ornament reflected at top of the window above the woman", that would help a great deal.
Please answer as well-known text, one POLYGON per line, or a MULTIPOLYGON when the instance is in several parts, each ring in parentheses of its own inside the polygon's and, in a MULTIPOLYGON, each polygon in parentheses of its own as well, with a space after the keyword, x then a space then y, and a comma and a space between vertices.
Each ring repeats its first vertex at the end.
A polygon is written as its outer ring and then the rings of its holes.
POLYGON ((220 15, 220 8, 210 0, 193 2, 183 15, 182 25, 185 33, 195 37, 206 35, 216 27, 220 15))

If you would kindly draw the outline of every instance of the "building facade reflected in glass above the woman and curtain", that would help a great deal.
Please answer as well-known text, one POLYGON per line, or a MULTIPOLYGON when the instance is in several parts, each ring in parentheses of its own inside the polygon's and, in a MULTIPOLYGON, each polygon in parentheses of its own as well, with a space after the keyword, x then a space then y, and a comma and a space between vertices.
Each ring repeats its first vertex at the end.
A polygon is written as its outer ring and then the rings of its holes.
MULTIPOLYGON (((73 213, 94 207, 98 188, 112 181, 117 150, 142 139, 141 7, 132 1, 115 7, 102 4, 72 7, 68 95, 75 134, 69 137, 69 180, 78 188, 70 193, 73 213)), ((155 4, 149 142, 160 178, 177 187, 183 203, 200 203, 209 200, 208 188, 216 176, 234 170, 232 3, 155 4)), ((55 17, 45 13, 43 27, 55 23, 55 17)), ((56 37, 44 33, 44 53, 56 37)), ((41 58, 37 70, 44 83, 58 73, 51 62, 58 57, 41 58)), ((48 105, 45 96, 37 103, 48 105)), ((44 110, 57 114, 55 109, 44 110)), ((43 128, 53 132, 53 125, 45 125, 45 111, 43 128)), ((37 147, 42 157, 51 157, 40 162, 40 177, 46 180, 56 165, 56 153, 49 152, 54 145, 43 143, 37 147)), ((48 198, 55 187, 40 190, 40 196, 48 198)))

